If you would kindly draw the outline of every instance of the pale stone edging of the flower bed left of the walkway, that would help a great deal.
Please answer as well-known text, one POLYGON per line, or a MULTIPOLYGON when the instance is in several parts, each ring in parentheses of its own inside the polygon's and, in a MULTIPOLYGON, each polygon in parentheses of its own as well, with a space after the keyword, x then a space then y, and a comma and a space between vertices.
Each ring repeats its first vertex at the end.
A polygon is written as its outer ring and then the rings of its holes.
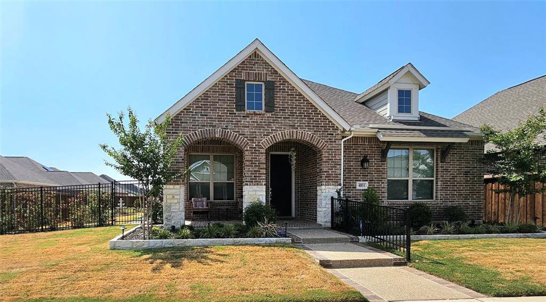
MULTIPOLYGON (((125 236, 133 233, 140 226, 127 231, 125 236)), ((225 245, 272 245, 292 243, 291 238, 212 238, 212 239, 161 239, 161 240, 122 240, 121 235, 110 240, 110 249, 147 249, 180 246, 225 246, 225 245)))

